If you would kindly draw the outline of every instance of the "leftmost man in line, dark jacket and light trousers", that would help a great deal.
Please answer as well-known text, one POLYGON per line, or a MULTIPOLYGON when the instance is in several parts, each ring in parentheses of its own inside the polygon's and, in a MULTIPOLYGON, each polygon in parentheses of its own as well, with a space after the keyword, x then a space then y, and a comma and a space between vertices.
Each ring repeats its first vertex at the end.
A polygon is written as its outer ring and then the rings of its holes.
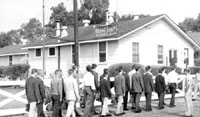
POLYGON ((29 117, 37 117, 37 103, 39 103, 39 89, 36 81, 37 69, 31 70, 31 76, 26 80, 25 91, 30 105, 29 117))

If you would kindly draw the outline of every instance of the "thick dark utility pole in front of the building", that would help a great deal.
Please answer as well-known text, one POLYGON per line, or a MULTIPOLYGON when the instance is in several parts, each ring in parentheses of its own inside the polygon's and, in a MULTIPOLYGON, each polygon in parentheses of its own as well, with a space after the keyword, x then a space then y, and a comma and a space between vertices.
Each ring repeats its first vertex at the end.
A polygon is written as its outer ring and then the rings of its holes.
POLYGON ((75 65, 79 70, 79 42, 78 42, 78 8, 77 0, 74 0, 74 49, 75 49, 75 65))

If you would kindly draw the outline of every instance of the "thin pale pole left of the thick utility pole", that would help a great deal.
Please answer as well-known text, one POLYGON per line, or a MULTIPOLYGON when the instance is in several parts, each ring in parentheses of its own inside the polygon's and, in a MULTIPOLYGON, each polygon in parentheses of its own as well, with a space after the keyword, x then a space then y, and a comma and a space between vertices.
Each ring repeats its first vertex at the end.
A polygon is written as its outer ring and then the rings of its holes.
POLYGON ((45 44, 44 44, 44 39, 45 39, 45 32, 44 32, 44 23, 45 23, 45 6, 44 6, 44 0, 43 0, 43 4, 42 4, 42 11, 43 11, 43 13, 42 13, 42 28, 43 28, 43 35, 42 35, 42 66, 43 66, 43 79, 45 78, 44 76, 45 76, 45 44))

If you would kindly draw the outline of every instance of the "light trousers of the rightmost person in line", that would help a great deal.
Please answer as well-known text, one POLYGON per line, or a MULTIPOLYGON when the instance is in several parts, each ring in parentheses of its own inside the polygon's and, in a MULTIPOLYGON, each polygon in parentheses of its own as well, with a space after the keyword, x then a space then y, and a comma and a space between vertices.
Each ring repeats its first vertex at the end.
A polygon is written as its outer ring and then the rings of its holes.
POLYGON ((185 115, 190 116, 193 114, 192 89, 189 88, 188 91, 185 92, 185 115))

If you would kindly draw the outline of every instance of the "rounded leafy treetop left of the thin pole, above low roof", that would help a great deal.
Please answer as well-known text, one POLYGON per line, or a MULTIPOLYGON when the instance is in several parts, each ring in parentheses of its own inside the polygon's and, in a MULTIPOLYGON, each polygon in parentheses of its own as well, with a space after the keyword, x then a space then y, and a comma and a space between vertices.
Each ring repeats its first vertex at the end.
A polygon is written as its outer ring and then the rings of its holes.
POLYGON ((41 39, 43 34, 42 24, 36 18, 32 18, 26 24, 22 24, 20 29, 20 35, 23 39, 27 39, 29 42, 41 39))

